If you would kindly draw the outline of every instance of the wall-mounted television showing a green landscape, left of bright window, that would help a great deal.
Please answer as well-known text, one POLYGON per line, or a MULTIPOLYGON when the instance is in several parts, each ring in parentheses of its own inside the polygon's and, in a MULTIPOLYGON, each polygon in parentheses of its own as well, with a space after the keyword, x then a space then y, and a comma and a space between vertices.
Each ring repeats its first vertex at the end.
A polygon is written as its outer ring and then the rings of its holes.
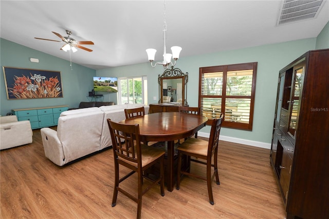
POLYGON ((118 78, 93 77, 95 92, 118 92, 118 78))

